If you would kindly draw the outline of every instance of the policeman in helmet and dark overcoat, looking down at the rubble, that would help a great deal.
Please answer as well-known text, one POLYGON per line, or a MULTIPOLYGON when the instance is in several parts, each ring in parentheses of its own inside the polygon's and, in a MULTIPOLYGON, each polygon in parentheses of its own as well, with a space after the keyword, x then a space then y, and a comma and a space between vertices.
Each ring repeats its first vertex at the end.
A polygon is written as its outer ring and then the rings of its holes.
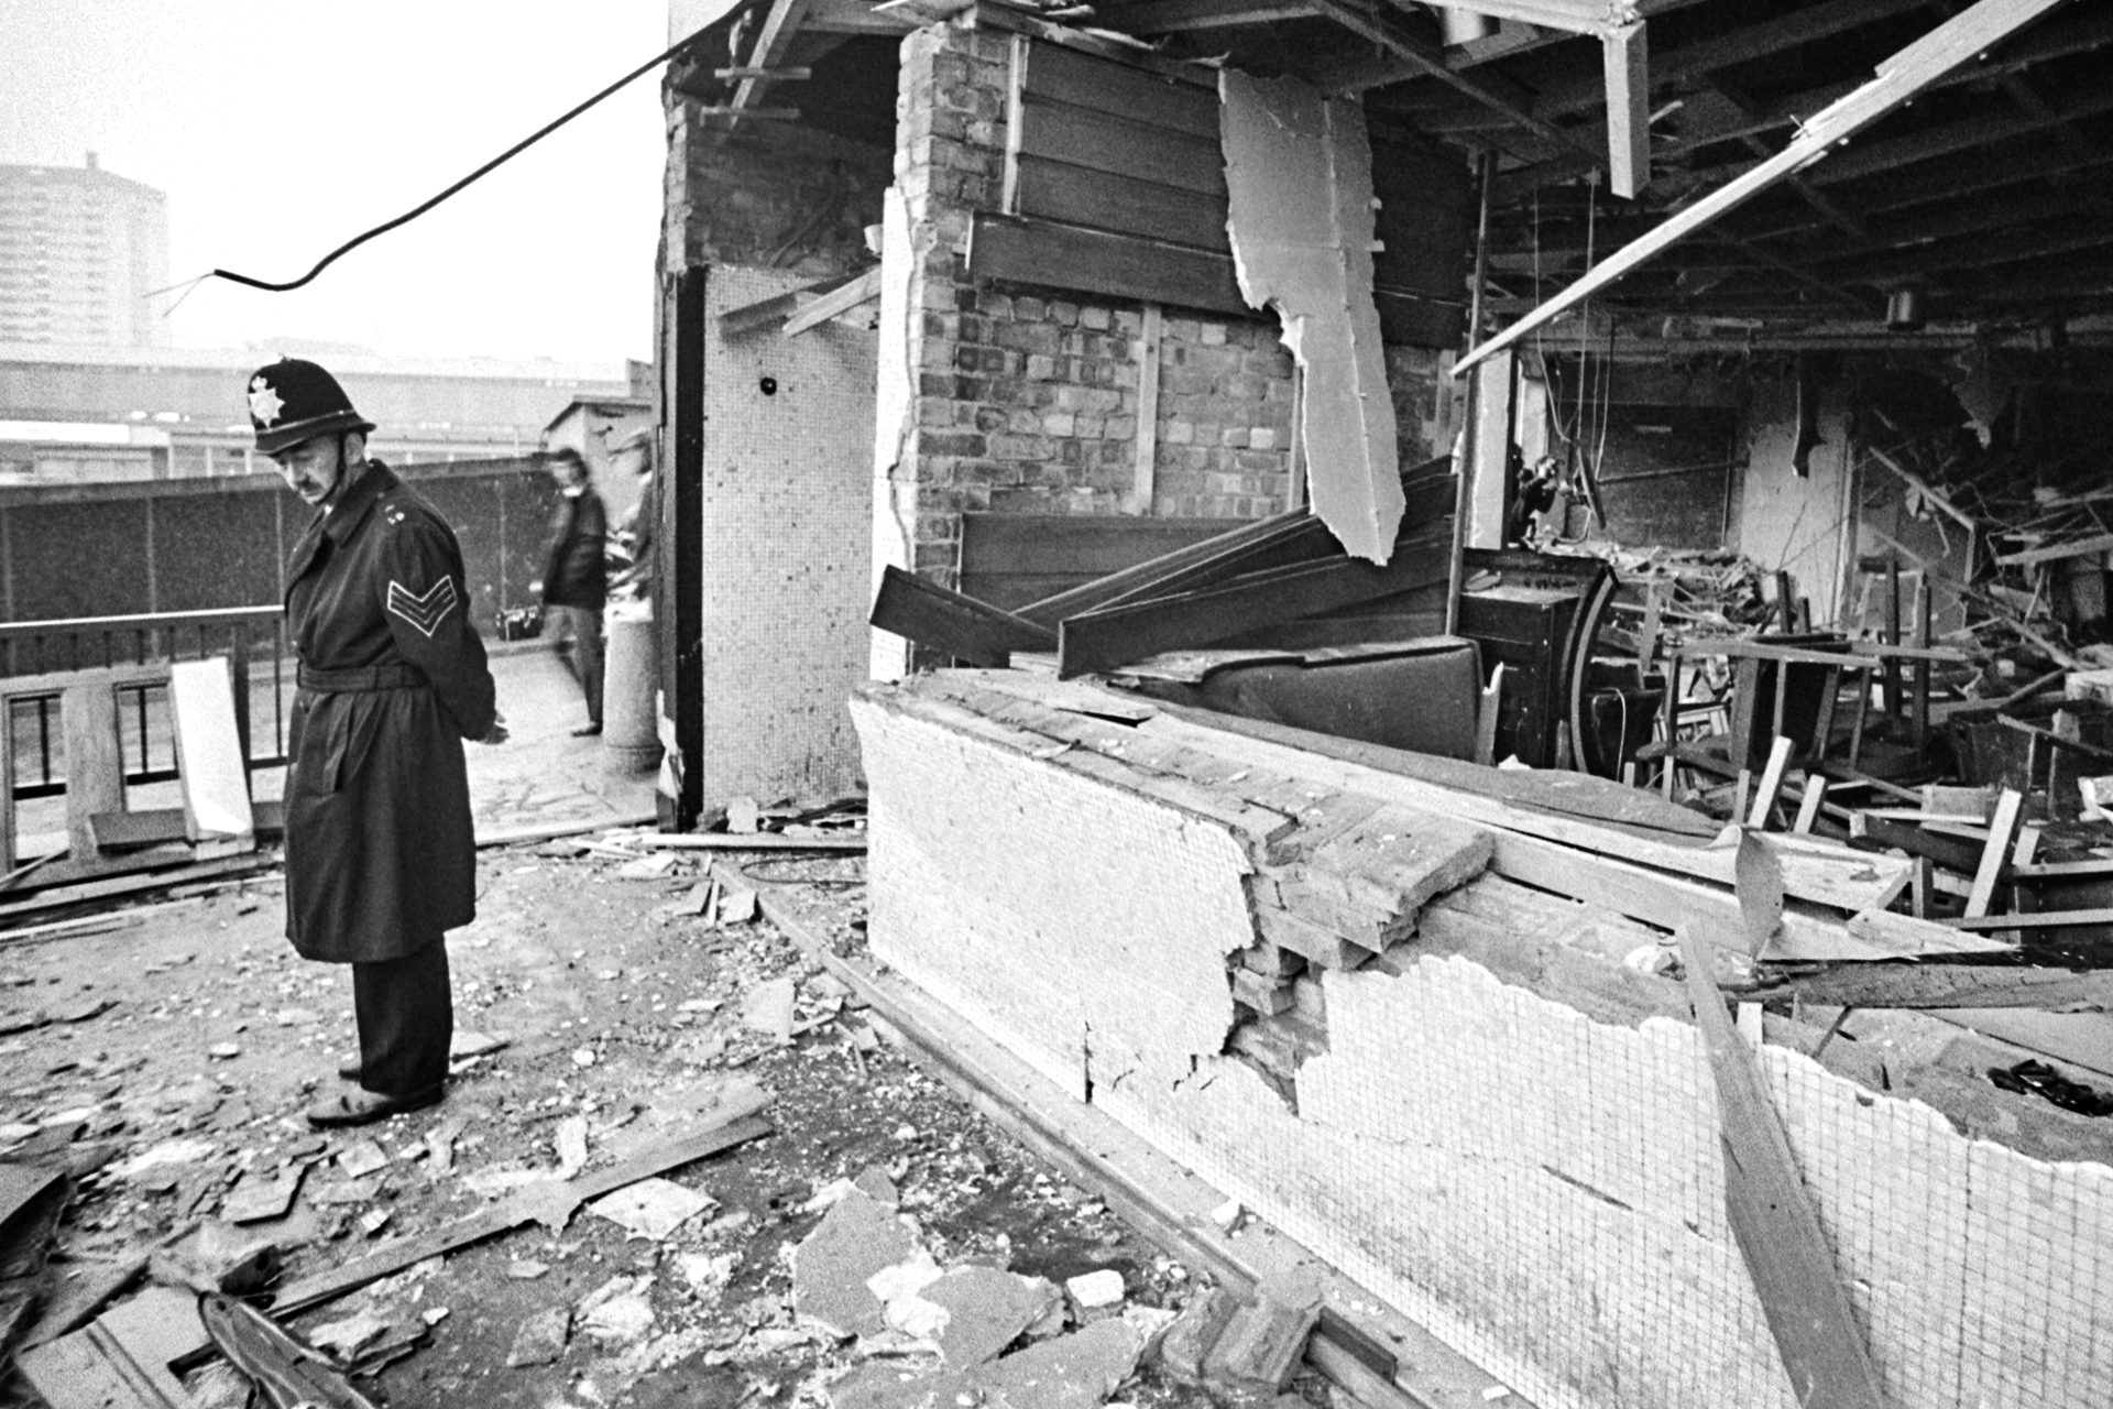
POLYGON ((249 378, 249 425, 315 520, 285 570, 300 661, 287 737, 285 934, 353 965, 357 1090, 308 1107, 363 1126, 429 1107, 454 1003, 444 934, 475 919, 463 739, 501 744, 463 549, 425 499, 366 454, 372 422, 313 361, 249 378))

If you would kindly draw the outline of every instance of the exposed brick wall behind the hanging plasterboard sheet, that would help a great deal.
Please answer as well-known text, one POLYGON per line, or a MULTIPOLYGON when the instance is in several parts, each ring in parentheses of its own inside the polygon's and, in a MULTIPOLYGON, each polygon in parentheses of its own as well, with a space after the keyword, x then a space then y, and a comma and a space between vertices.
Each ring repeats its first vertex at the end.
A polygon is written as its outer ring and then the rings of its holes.
MULTIPOLYGON (((932 25, 902 44, 896 186, 915 251, 911 408, 892 469, 911 566, 953 585, 961 513, 1251 520, 1291 496, 1293 363, 1274 315, 1164 308, 1158 414, 1139 427, 1145 308, 972 281, 970 218, 1004 205, 1012 36, 932 25), (1137 437, 1152 503, 1133 503, 1137 437)), ((1388 349, 1405 463, 1450 446, 1439 355, 1388 349)))

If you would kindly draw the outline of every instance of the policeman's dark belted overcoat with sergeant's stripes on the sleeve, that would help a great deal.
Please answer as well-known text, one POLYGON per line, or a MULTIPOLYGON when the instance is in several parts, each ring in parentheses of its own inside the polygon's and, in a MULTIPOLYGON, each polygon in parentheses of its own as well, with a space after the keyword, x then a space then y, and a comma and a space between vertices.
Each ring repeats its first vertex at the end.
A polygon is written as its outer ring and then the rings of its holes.
POLYGON ((389 467, 294 545, 285 932, 304 959, 399 959, 478 913, 463 739, 494 718, 454 530, 389 467))

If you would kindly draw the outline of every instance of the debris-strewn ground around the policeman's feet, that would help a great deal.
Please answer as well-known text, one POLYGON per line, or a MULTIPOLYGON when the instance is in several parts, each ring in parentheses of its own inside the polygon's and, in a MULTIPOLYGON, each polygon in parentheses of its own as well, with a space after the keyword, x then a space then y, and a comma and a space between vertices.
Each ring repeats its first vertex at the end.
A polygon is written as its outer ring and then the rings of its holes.
POLYGON ((450 936, 450 1094, 361 1130, 300 1122, 357 1046, 351 993, 287 951, 254 883, 6 953, 13 1014, 93 1010, 0 1033, 21 1071, 0 1168, 76 1181, 11 1344, 114 1333, 232 1407, 247 1382, 194 1310, 224 1286, 277 1297, 275 1325, 393 1409, 657 1403, 676 1382, 752 1409, 1209 1401, 1152 1350, 1207 1278, 881 1041, 765 919, 761 877, 856 953, 860 856, 670 849, 630 879, 636 837, 486 856, 480 919, 450 936), (763 1103, 763 1136, 625 1175, 763 1103))

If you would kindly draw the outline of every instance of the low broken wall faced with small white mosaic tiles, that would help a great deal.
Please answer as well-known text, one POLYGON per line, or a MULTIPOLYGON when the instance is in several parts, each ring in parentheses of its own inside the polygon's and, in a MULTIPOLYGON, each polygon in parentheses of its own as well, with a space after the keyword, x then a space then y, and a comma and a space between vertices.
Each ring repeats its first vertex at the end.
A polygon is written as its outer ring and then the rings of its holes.
MULTIPOLYGON (((852 712, 879 959, 1536 1403, 1796 1403, 1699 1035, 1619 963, 1659 932, 1099 691, 942 672, 852 712)), ((1891 1403, 2102 1407, 2113 1170, 1760 1058, 1891 1403)))

